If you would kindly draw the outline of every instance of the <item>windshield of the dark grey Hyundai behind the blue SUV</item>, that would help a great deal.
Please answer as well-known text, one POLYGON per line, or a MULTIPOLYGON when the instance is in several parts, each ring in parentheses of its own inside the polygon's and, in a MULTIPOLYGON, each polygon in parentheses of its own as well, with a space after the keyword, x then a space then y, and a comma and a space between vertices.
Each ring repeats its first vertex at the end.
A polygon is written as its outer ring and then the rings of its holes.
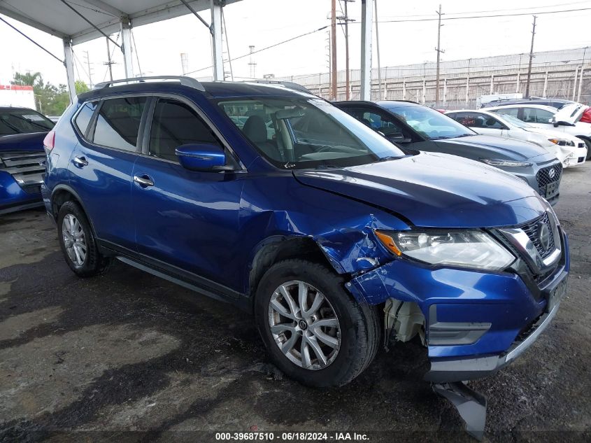
POLYGON ((427 106, 390 105, 384 107, 405 120, 409 126, 427 139, 453 139, 476 134, 448 115, 427 108, 427 106))

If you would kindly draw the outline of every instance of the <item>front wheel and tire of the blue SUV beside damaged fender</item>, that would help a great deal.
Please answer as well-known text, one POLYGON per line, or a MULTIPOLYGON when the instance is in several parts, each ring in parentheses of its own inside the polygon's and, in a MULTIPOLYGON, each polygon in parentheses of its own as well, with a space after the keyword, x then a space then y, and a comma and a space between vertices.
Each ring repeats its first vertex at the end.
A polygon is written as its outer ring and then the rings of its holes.
POLYGON ((255 319, 273 363, 307 386, 347 384, 380 342, 376 310, 355 301, 332 269, 305 260, 269 268, 257 287, 255 319))

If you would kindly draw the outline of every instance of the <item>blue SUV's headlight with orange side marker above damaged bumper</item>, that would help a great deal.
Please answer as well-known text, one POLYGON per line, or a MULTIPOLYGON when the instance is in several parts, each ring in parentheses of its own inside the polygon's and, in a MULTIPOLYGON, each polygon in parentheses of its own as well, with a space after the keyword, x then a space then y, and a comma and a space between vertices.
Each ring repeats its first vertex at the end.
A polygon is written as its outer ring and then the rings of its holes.
POLYGON ((481 230, 376 230, 376 237, 395 255, 430 265, 448 265, 499 271, 515 257, 481 230))

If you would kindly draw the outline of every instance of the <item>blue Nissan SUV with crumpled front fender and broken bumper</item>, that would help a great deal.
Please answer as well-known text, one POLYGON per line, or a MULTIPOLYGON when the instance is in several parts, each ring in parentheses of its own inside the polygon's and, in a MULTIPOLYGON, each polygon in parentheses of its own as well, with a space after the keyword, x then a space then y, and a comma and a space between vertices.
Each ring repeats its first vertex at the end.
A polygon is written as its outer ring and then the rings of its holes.
POLYGON ((556 314, 567 237, 522 180, 403 152, 295 85, 126 81, 45 139, 43 199, 78 276, 118 259, 234 303, 311 386, 351 381, 383 339, 422 342, 427 380, 483 377, 556 314))

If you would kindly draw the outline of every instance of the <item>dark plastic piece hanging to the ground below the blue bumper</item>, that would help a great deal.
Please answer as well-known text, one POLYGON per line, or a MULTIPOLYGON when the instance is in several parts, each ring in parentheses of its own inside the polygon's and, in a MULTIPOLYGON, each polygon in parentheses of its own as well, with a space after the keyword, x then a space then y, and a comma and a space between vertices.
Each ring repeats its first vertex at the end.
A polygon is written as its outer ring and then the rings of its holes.
POLYGON ((470 389, 464 381, 432 384, 433 391, 448 399, 466 423, 466 432, 479 442, 486 425, 486 398, 470 389))

